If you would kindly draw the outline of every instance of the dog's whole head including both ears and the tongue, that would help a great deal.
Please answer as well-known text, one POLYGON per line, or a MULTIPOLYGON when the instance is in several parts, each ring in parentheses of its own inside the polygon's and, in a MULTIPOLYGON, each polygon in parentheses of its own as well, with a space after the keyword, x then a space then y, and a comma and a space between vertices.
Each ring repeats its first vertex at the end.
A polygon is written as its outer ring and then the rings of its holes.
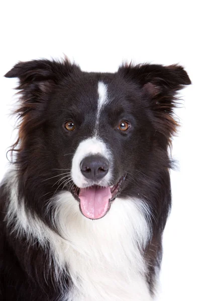
POLYGON ((23 93, 21 174, 27 182, 38 176, 36 186, 49 185, 50 194, 70 191, 86 217, 103 217, 119 194, 145 194, 146 177, 169 167, 174 95, 190 83, 181 67, 86 73, 41 60, 6 76, 19 77, 23 93))

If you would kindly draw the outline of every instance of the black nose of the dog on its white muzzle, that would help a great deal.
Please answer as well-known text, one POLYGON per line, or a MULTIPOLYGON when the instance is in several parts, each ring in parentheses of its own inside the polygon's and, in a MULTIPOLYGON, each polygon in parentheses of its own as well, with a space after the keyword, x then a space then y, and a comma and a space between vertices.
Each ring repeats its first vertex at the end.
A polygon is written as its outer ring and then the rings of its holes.
POLYGON ((85 157, 80 163, 82 175, 90 180, 103 179, 109 170, 109 161, 100 155, 85 157))

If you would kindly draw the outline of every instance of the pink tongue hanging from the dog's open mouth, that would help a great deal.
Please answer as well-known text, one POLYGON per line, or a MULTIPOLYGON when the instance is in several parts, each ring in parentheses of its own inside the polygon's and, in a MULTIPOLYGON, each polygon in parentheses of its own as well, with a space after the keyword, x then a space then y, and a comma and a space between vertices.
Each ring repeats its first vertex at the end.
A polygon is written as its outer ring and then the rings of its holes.
POLYGON ((83 215, 91 219, 103 217, 112 198, 110 187, 91 186, 81 188, 79 192, 80 206, 83 215))

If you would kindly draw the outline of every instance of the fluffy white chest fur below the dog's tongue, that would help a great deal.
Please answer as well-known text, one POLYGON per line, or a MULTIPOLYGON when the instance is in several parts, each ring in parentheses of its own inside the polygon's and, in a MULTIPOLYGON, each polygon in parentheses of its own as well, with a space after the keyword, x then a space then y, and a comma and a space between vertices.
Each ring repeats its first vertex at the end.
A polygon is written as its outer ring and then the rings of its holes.
POLYGON ((104 218, 94 221, 81 215, 67 193, 56 203, 57 223, 67 241, 56 239, 52 248, 59 266, 67 263, 73 281, 67 300, 151 300, 139 249, 149 236, 142 203, 118 198, 104 218))

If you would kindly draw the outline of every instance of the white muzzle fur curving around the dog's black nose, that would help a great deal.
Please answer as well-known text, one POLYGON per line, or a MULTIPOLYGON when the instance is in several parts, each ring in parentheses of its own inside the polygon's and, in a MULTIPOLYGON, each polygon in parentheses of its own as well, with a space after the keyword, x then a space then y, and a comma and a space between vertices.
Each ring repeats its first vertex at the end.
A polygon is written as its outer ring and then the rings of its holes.
POLYGON ((72 159, 71 176, 76 186, 83 188, 88 186, 86 178, 82 175, 80 170, 81 161, 90 155, 102 155, 107 158, 110 163, 110 169, 108 174, 102 180, 102 186, 109 186, 111 181, 111 170, 112 170, 112 155, 110 153, 108 145, 100 138, 91 137, 81 141, 76 149, 76 152, 72 159))

